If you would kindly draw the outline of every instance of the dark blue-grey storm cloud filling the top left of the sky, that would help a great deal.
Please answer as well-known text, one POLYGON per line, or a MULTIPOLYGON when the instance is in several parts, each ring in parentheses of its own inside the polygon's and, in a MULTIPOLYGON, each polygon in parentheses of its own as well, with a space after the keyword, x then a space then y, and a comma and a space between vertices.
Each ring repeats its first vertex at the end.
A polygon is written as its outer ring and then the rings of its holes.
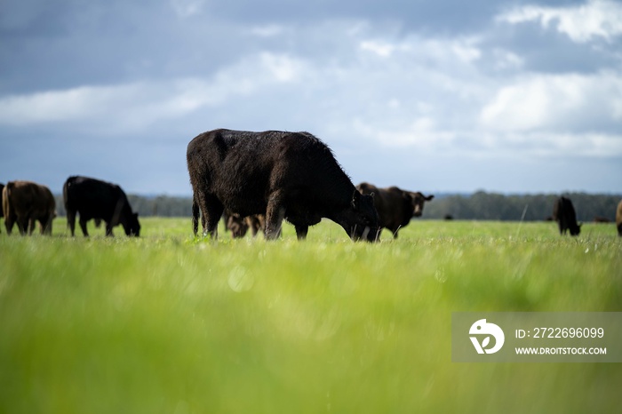
POLYGON ((0 24, 4 93, 203 76, 251 47, 230 24, 179 17, 169 2, 21 3, 0 24))

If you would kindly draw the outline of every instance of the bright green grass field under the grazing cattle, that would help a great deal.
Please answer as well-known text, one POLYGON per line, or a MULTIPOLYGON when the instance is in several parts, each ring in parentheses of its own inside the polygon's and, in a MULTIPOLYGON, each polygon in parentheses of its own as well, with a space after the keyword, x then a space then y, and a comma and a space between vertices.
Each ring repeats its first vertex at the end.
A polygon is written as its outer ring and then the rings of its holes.
POLYGON ((451 362, 451 312, 622 311, 613 225, 418 220, 352 243, 0 235, 2 413, 609 413, 619 363, 451 362))

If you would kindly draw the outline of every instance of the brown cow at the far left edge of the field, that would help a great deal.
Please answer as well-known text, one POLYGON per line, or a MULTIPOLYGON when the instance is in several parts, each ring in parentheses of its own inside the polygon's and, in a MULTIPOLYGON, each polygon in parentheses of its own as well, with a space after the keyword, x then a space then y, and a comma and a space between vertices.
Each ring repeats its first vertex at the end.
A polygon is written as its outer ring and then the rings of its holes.
POLYGON ((50 188, 31 181, 9 181, 2 191, 4 226, 11 235, 17 224, 20 235, 32 235, 36 221, 42 235, 52 235, 52 219, 56 217, 56 202, 50 188))

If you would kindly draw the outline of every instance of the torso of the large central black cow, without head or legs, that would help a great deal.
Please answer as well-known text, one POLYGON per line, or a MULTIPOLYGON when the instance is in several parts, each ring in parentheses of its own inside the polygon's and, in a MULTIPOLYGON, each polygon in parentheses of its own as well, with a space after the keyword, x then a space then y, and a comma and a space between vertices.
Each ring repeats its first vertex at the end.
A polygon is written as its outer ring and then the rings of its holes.
POLYGON ((187 146, 187 167, 195 192, 215 195, 241 217, 265 213, 279 188, 291 211, 347 206, 355 191, 330 148, 308 132, 203 132, 187 146))

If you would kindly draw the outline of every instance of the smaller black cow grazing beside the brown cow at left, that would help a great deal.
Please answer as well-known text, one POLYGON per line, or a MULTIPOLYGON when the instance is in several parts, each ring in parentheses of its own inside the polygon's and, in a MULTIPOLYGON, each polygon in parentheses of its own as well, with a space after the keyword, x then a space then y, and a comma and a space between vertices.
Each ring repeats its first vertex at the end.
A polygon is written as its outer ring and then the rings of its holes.
POLYGON ((121 224, 126 235, 140 235, 139 214, 132 212, 124 190, 116 184, 89 179, 69 177, 63 186, 63 200, 67 211, 67 223, 71 235, 76 231, 76 212, 80 213, 80 227, 88 236, 86 222, 90 219, 106 223, 106 235, 112 234, 112 227, 121 224))

